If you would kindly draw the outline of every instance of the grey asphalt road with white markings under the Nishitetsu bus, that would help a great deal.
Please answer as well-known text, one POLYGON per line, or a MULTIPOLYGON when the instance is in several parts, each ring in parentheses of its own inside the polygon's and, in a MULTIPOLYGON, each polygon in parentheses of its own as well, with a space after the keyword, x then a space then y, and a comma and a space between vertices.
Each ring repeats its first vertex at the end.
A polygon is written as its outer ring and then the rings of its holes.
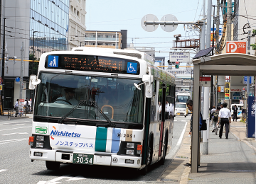
MULTIPOLYGON (((154 164, 146 176, 130 168, 62 164, 58 171, 46 169, 45 161, 28 159, 32 119, 0 120, 0 183, 155 183, 171 163, 188 117, 175 117, 173 147, 164 165, 154 164), (178 143, 178 144, 177 144, 178 143)), ((185 135, 188 136, 188 135, 185 135)))

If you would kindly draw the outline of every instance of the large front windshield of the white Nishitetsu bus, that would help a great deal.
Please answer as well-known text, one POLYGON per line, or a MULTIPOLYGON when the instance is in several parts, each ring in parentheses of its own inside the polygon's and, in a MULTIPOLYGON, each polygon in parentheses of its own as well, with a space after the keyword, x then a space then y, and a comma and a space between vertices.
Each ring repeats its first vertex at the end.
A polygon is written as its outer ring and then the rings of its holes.
POLYGON ((104 113, 111 121, 142 123, 144 88, 139 91, 134 87, 140 79, 43 72, 38 79, 41 84, 36 89, 34 116, 61 118, 83 101, 68 115, 69 121, 107 121, 104 113))

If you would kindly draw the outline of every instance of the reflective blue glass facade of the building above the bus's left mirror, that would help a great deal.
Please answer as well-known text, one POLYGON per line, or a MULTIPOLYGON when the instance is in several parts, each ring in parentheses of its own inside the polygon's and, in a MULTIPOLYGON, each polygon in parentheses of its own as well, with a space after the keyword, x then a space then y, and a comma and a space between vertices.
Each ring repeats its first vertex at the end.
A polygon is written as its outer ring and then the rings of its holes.
POLYGON ((30 54, 68 50, 69 0, 31 0, 30 54), (34 32, 34 33, 33 33, 34 32))

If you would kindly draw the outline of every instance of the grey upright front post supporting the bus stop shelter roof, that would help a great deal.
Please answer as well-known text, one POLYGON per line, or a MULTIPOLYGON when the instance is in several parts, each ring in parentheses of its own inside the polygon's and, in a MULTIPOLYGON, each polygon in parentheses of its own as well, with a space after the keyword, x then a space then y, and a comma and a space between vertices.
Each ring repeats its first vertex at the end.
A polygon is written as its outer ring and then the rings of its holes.
POLYGON ((191 173, 198 173, 198 154, 199 150, 199 86, 200 66, 194 65, 193 79, 193 126, 192 126, 192 148, 191 148, 191 173))

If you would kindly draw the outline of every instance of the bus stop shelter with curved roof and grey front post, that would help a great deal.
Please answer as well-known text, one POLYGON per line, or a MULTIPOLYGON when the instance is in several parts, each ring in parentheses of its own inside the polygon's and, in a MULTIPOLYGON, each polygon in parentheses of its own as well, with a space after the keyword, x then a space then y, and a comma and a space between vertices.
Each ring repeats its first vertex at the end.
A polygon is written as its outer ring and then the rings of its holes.
POLYGON ((191 173, 198 173, 199 154, 199 111, 201 105, 200 77, 215 76, 255 76, 256 57, 249 54, 229 53, 193 59, 193 127, 191 173), (195 123, 198 122, 198 123, 195 123))

